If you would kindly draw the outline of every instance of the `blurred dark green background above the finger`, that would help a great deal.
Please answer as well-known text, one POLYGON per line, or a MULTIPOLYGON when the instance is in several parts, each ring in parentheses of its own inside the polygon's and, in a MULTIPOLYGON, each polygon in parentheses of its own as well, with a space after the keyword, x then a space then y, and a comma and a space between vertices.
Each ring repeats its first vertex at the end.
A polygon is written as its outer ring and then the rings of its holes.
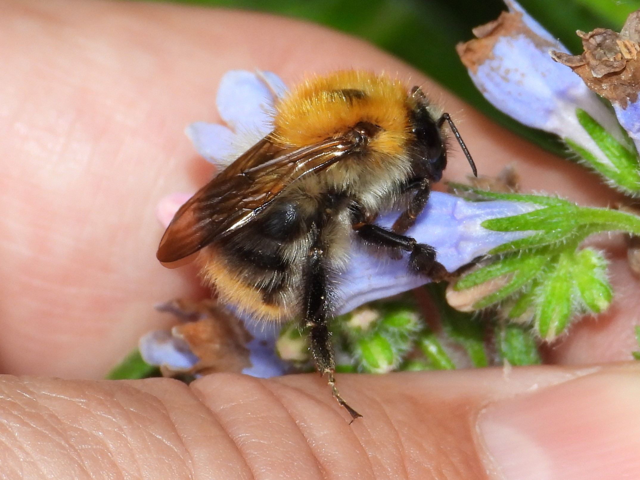
MULTIPOLYGON (((565 149, 551 136, 528 129, 495 110, 471 83, 455 46, 471 29, 506 10, 500 0, 173 0, 174 3, 240 8, 310 20, 365 38, 429 77, 512 131, 548 150, 565 149)), ((582 51, 577 29, 620 31, 640 0, 522 0, 524 8, 570 51, 582 51)))

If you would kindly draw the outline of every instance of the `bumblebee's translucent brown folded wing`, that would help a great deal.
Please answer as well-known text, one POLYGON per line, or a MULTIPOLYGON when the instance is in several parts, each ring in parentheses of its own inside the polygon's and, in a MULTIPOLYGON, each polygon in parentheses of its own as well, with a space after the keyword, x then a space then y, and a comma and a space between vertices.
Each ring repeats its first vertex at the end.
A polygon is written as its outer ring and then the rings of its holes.
POLYGON ((282 148, 260 140, 202 187, 173 217, 157 259, 177 262, 246 225, 292 182, 323 170, 356 147, 347 136, 303 148, 282 148))

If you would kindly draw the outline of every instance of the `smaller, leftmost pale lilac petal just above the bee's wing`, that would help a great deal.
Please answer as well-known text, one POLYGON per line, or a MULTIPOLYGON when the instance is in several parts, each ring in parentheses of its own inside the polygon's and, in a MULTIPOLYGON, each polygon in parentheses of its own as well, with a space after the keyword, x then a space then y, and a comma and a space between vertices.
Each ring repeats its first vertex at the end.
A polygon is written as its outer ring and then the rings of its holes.
POLYGON ((218 168, 225 168, 225 159, 236 153, 234 139, 236 134, 223 125, 195 122, 184 132, 196 151, 218 168))

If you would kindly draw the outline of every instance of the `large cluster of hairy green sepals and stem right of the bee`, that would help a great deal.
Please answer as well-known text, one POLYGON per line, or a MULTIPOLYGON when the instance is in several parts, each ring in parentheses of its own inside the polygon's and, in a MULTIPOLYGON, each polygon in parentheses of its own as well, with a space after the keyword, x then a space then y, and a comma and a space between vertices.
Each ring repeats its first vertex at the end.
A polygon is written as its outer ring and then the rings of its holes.
POLYGON ((492 285, 470 308, 502 303, 510 319, 531 321, 540 337, 552 340, 577 314, 600 313, 609 307, 613 292, 607 279, 607 260, 602 253, 579 246, 598 232, 637 234, 640 218, 621 211, 580 207, 561 198, 470 191, 485 198, 540 205, 532 212, 483 222, 490 230, 532 234, 494 248, 488 263, 456 282, 454 292, 492 285))

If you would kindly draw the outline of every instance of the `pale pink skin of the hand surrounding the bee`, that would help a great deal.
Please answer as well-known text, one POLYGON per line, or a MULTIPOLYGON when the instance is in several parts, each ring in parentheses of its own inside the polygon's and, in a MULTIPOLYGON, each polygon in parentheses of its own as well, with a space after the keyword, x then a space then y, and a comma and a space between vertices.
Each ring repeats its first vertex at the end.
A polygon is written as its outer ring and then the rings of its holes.
MULTIPOLYGON (((154 210, 211 176, 182 131, 220 120, 214 97, 227 70, 271 70, 289 84, 335 68, 398 72, 456 118, 483 175, 515 164, 525 191, 600 206, 616 196, 400 61, 317 26, 93 0, 3 0, 2 10, 0 478, 595 479, 640 470, 638 367, 610 363, 637 348, 639 285, 615 238, 602 243, 614 305, 550 348, 556 366, 339 376, 364 414, 351 425, 317 375, 217 374, 189 387, 95 380, 169 321, 154 304, 207 294, 193 269, 158 264, 154 210)), ((467 173, 456 151, 445 180, 467 173)))

